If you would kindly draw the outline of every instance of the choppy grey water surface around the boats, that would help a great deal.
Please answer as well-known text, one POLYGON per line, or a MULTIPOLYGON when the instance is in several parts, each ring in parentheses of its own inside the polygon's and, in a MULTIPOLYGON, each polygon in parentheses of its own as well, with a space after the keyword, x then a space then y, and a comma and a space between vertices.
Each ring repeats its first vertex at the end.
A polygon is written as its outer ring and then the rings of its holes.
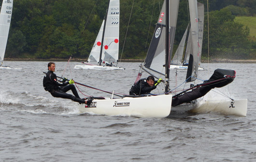
MULTIPOLYGON (((81 114, 77 103, 44 91, 47 63, 6 62, 14 69, 0 70, 0 162, 255 162, 256 64, 203 63, 209 70, 199 72, 208 79, 216 68, 236 70, 224 90, 248 99, 246 117, 207 112, 156 119, 81 114)), ((119 63, 125 71, 74 70, 75 64, 70 62, 64 76, 127 94, 140 63, 119 63)), ((56 62, 56 74, 66 65, 56 62)), ((80 88, 86 95, 110 97, 80 88)))

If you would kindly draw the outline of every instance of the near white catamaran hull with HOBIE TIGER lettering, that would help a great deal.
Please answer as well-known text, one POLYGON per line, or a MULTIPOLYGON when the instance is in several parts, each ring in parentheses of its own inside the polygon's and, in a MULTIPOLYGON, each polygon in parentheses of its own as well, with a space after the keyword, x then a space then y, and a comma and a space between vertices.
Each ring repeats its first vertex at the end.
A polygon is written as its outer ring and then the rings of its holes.
POLYGON ((79 105, 80 112, 109 116, 167 117, 171 112, 172 95, 148 96, 140 98, 93 100, 90 107, 79 105))

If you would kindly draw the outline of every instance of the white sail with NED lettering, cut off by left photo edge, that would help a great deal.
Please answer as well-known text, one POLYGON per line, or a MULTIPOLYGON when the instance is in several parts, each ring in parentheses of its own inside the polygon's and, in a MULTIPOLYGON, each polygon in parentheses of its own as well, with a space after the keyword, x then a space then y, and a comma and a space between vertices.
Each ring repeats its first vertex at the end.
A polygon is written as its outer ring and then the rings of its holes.
POLYGON ((13 0, 3 0, 0 12, 0 61, 4 59, 12 12, 13 0))

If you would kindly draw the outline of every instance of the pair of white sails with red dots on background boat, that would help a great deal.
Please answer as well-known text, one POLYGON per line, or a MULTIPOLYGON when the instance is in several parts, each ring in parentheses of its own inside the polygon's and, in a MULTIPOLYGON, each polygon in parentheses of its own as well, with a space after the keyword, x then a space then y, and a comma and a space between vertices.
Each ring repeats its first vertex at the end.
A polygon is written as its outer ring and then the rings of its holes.
POLYGON ((88 58, 88 62, 97 63, 97 62, 117 62, 118 60, 118 50, 119 50, 119 15, 120 7, 119 0, 110 0, 108 6, 108 13, 104 31, 103 43, 102 34, 103 26, 105 21, 103 20, 100 27, 100 31, 95 40, 93 48, 88 58), (103 46, 101 61, 100 61, 100 47, 103 46))

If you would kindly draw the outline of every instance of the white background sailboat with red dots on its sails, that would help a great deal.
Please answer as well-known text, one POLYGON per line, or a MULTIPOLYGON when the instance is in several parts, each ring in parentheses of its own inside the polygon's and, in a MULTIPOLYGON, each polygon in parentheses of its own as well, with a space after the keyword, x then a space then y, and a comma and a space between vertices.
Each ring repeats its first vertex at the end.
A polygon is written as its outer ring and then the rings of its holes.
POLYGON ((87 62, 82 62, 84 65, 75 65, 74 69, 124 70, 113 64, 118 60, 119 15, 119 0, 109 0, 106 16, 87 62))

